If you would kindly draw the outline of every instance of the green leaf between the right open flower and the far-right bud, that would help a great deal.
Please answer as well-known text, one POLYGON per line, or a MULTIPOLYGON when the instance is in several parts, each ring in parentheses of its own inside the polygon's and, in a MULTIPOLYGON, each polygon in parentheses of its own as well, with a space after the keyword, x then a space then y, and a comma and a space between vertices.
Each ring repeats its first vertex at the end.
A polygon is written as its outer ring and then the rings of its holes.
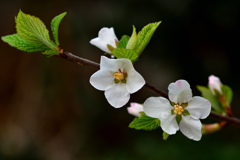
POLYGON ((209 100, 212 104, 212 107, 215 109, 217 113, 225 112, 221 103, 218 101, 217 97, 212 94, 212 91, 204 86, 197 86, 197 89, 202 93, 202 96, 209 100))

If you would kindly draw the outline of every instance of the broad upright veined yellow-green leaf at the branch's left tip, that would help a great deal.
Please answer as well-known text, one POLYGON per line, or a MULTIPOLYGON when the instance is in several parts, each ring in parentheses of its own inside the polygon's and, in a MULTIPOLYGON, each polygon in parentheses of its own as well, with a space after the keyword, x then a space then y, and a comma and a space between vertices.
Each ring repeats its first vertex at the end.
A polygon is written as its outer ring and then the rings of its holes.
POLYGON ((19 11, 16 18, 16 29, 17 34, 23 40, 58 51, 57 45, 50 40, 46 26, 39 18, 19 11))

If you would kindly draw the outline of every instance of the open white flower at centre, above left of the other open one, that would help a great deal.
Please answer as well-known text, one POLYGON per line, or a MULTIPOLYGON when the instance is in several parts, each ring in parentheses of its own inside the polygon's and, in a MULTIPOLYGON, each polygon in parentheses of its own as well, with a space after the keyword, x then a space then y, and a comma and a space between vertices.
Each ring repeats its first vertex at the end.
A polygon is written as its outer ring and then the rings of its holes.
POLYGON ((129 101, 130 93, 143 87, 145 80, 129 59, 101 56, 100 70, 90 77, 90 83, 96 89, 105 91, 105 97, 113 107, 120 108, 129 101))

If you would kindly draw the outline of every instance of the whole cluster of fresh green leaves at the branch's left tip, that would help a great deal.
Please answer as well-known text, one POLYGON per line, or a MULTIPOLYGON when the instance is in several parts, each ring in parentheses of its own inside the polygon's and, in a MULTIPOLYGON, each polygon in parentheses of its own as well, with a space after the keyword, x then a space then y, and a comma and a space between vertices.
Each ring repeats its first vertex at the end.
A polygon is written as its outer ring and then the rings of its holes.
POLYGON ((42 51, 45 55, 59 54, 58 27, 66 13, 56 16, 51 23, 56 44, 50 40, 44 23, 37 17, 19 11, 16 17, 17 34, 2 37, 2 40, 19 50, 26 52, 42 51))

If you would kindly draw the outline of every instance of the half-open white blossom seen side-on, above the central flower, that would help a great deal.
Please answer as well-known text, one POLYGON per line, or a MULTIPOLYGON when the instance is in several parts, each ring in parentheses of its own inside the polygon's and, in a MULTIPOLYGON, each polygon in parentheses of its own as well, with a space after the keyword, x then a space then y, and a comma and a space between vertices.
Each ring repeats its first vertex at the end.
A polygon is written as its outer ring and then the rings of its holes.
POLYGON ((98 48, 100 48, 102 51, 106 53, 111 53, 111 51, 108 49, 108 44, 111 45, 113 48, 117 48, 116 43, 118 42, 118 39, 114 33, 113 27, 106 28, 103 27, 98 32, 98 37, 92 39, 90 43, 98 48))

